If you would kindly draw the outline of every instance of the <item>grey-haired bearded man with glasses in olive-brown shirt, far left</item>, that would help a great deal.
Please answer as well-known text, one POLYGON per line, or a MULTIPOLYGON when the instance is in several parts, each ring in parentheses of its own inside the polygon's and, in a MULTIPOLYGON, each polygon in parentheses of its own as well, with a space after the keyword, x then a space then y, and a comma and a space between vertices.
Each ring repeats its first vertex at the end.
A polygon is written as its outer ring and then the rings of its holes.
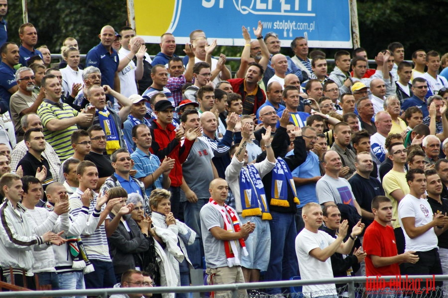
POLYGON ((40 91, 37 95, 32 92, 34 89, 34 73, 30 68, 19 68, 15 72, 15 80, 18 90, 12 94, 9 101, 9 113, 14 124, 15 139, 18 143, 23 140, 25 134, 20 125, 20 118, 25 114, 36 113, 45 97, 45 93, 40 91))

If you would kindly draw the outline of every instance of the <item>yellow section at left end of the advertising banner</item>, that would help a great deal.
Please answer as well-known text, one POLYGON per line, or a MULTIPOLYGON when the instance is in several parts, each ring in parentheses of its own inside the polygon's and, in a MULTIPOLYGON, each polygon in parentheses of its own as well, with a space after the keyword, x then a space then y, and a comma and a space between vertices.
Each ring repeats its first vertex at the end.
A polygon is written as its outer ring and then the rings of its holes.
POLYGON ((138 35, 166 33, 175 14, 177 0, 134 0, 135 31, 138 35))

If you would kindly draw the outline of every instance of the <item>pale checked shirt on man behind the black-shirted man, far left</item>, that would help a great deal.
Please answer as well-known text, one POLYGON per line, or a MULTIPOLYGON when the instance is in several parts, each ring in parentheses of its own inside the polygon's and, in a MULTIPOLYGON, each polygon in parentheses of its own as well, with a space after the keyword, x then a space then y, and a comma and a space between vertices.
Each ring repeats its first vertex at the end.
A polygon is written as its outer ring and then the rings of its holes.
MULTIPOLYGON (((19 161, 25 156, 26 152, 28 152, 28 148, 26 148, 25 141, 20 141, 15 145, 14 149, 11 152, 11 163, 9 166, 11 167, 11 171, 15 171, 17 168, 17 164, 19 161)), ((42 152, 42 156, 48 161, 50 164, 50 172, 53 176, 53 182, 59 182, 59 169, 61 168, 61 160, 58 157, 58 154, 54 151, 53 147, 51 147, 48 142, 45 142, 45 151, 42 152)))

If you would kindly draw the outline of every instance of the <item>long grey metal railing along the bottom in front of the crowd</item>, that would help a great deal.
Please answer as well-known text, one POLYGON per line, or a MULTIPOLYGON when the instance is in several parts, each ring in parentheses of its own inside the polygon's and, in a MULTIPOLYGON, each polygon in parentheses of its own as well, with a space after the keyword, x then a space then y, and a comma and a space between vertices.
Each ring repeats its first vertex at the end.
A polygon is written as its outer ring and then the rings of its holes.
MULTIPOLYGON (((413 275, 413 276, 381 276, 368 277, 370 283, 373 280, 397 280, 401 278, 403 281, 411 282, 419 281, 448 281, 448 275, 413 275)), ((214 292, 214 291, 231 291, 233 297, 236 297, 236 292, 242 289, 266 289, 266 288, 285 288, 285 287, 299 287, 305 285, 323 285, 323 284, 348 284, 347 292, 349 298, 355 298, 355 291, 366 290, 365 286, 357 287, 357 284, 365 284, 366 277, 341 277, 333 279, 321 279, 321 280, 292 280, 292 281, 278 281, 278 282, 259 282, 259 283, 244 283, 244 284, 231 284, 231 285, 216 285, 216 286, 190 286, 190 287, 139 287, 139 288, 111 288, 111 289, 89 289, 89 290, 76 290, 76 296, 98 296, 106 298, 112 294, 137 294, 137 293, 198 293, 198 292, 214 292)), ((369 281, 367 281, 369 282, 369 281)), ((422 284, 422 288, 426 287, 426 284, 422 284)), ((368 289, 367 289, 368 290, 368 289)), ((421 290, 421 289, 419 289, 421 290)), ((438 295, 432 297, 442 297, 442 290, 438 289, 438 295)), ((295 294, 298 295, 299 293, 295 294)), ((1 292, 0 297, 60 297, 60 296, 73 296, 73 290, 54 290, 54 291, 23 291, 23 292, 1 292), (11 295, 12 294, 12 295, 11 295)))

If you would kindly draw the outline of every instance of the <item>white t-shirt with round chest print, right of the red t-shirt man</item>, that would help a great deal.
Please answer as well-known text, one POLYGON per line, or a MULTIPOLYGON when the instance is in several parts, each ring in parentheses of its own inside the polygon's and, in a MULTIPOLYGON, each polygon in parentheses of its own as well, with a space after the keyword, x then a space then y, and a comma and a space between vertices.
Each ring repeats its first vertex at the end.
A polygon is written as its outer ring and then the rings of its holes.
MULTIPOLYGON (((407 194, 398 204, 398 217, 401 226, 403 226, 401 219, 413 217, 415 226, 418 227, 430 223, 433 220, 433 212, 426 199, 417 199, 407 194)), ((408 236, 404 227, 403 232, 406 240, 405 251, 429 251, 437 247, 438 239, 434 227, 414 239, 408 236)))

